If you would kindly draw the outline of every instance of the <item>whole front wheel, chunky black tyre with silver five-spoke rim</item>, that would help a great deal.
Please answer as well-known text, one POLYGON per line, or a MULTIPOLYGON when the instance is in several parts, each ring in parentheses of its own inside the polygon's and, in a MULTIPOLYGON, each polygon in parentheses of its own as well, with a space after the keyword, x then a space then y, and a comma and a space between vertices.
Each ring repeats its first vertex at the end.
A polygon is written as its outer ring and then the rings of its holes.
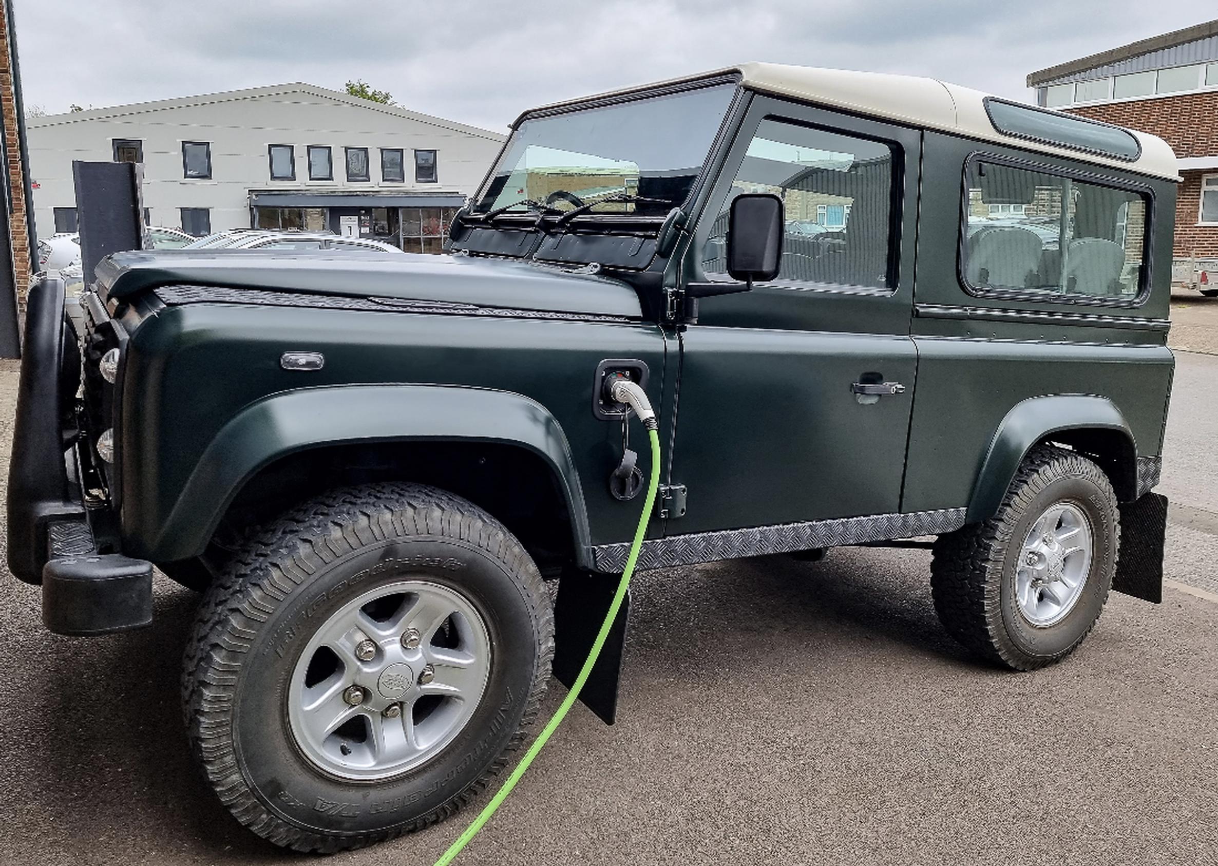
POLYGON ((207 590, 183 700, 241 823, 335 851, 469 803, 523 743, 552 655, 541 575, 502 524, 376 484, 255 533, 207 590))

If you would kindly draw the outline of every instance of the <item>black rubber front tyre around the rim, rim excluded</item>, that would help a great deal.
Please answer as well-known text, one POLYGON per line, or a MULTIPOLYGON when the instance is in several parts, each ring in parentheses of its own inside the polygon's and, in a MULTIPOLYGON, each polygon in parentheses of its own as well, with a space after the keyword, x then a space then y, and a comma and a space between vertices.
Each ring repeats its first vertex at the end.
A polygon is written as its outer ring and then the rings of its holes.
POLYGON ((208 590, 183 672, 186 723, 241 823, 296 850, 356 848, 473 799, 524 741, 552 654, 541 576, 498 521, 434 488, 369 485, 285 515, 208 590), (317 626, 403 576, 449 587, 476 608, 495 648, 486 688, 469 722, 425 764, 384 780, 340 778, 298 748, 289 681, 317 626))

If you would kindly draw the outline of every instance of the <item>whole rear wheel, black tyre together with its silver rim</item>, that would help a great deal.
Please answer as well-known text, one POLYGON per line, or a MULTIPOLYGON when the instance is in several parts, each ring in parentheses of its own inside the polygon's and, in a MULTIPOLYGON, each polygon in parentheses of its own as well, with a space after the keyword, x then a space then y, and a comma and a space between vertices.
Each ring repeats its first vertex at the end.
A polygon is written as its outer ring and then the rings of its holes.
POLYGON ((1121 526, 1095 463, 1038 446, 989 520, 939 536, 935 611, 983 659, 1015 670, 1058 661, 1082 643, 1112 587, 1121 526))

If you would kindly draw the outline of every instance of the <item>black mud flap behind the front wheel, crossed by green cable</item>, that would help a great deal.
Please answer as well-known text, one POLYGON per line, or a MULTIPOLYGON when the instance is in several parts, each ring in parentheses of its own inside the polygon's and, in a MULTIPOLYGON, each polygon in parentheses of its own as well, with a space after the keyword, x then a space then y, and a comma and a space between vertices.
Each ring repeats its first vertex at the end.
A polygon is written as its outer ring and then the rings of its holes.
MULTIPOLYGON (((554 602, 554 677, 570 688, 588 658, 600 624, 609 613, 609 604, 618 591, 620 575, 600 575, 570 570, 558 585, 554 602)), ((626 647, 626 622, 630 619, 630 592, 609 630, 600 658, 583 683, 580 700, 605 725, 618 717, 618 682, 621 677, 621 657, 626 647)))

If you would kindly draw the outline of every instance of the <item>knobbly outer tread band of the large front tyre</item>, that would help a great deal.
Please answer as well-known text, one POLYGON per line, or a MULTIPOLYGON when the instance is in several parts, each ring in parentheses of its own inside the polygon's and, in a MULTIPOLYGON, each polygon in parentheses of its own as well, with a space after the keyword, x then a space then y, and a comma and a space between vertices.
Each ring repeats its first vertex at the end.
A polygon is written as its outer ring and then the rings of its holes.
POLYGON ((238 821, 278 845, 329 854, 385 842, 451 817, 507 766, 541 709, 554 654, 553 635, 553 610, 537 566, 515 537, 481 508, 446 491, 408 482, 331 491, 253 531, 203 596, 181 670, 181 702, 191 749, 238 821), (258 627, 318 569, 378 541, 414 535, 475 544, 524 583, 523 597, 543 639, 520 725, 474 783, 412 822, 351 834, 297 827, 263 805, 238 766, 231 711, 245 655, 258 627))

